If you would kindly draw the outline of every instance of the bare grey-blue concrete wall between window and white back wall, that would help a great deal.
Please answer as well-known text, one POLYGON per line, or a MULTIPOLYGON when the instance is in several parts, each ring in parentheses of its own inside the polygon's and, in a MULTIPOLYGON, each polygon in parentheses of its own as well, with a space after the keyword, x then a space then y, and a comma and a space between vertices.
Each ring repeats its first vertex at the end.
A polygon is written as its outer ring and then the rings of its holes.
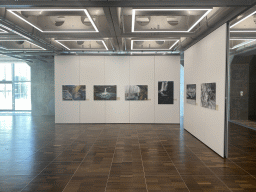
POLYGON ((54 63, 33 63, 31 67, 32 115, 54 115, 54 63))

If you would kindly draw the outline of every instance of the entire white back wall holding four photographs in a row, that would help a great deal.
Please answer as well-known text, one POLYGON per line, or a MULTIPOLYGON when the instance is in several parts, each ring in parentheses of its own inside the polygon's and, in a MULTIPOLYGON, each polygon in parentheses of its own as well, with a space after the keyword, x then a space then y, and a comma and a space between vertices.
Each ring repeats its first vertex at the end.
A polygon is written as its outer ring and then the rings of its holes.
POLYGON ((179 123, 179 56, 56 56, 56 123, 179 123), (174 81, 174 104, 158 105, 158 81, 174 81), (62 85, 86 85, 86 101, 63 101, 62 85), (94 85, 116 85, 117 100, 95 101, 94 85), (126 85, 148 85, 148 100, 126 101, 126 85))

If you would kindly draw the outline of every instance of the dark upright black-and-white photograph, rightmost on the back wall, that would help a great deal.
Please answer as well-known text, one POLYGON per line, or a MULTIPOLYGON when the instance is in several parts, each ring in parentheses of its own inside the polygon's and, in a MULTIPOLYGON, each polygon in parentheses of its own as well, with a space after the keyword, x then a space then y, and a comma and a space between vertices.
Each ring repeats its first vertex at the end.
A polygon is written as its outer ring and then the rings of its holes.
POLYGON ((173 81, 158 81, 158 104, 173 104, 173 81))

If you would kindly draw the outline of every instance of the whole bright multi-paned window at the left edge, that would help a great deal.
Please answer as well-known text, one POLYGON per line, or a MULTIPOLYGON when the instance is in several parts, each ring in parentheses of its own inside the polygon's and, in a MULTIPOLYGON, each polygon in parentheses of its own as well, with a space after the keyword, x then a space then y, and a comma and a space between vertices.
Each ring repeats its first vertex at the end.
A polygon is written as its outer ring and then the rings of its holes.
POLYGON ((0 110, 31 110, 28 64, 0 63, 0 110))

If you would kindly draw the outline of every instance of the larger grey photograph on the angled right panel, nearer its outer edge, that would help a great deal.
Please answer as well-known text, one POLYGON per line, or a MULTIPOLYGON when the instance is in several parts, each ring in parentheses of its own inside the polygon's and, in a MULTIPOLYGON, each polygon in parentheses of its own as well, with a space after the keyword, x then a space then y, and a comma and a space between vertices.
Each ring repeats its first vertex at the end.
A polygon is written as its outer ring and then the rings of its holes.
POLYGON ((216 109, 216 83, 203 83, 201 85, 201 106, 216 109))

